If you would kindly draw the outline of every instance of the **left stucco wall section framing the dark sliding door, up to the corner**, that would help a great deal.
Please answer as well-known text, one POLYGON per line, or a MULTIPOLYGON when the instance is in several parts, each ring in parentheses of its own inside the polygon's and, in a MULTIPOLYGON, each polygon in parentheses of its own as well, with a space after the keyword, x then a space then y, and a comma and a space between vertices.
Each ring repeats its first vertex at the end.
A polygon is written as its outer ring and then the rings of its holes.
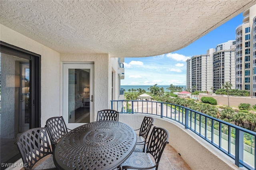
POLYGON ((52 116, 60 115, 60 54, 4 25, 0 40, 41 55, 41 126, 52 116))

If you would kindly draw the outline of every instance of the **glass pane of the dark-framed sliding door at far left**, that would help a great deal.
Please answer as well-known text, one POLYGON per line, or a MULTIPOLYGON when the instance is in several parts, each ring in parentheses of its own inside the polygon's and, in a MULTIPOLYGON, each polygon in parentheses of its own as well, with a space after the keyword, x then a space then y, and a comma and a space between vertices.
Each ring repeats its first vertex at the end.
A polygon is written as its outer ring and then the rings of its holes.
MULTIPOLYGON (((14 142, 30 125, 29 60, 0 53, 1 163, 15 162, 20 154, 14 142)), ((7 167, 1 167, 5 169, 7 167)))

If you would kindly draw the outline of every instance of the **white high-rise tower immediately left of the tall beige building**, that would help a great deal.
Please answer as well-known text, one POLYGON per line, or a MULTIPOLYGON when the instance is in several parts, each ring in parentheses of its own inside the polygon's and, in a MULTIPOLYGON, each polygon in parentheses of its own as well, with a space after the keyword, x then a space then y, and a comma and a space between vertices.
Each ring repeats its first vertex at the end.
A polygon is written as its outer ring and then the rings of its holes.
POLYGON ((216 46, 213 53, 213 92, 222 88, 225 82, 230 82, 235 87, 235 48, 234 40, 216 46))

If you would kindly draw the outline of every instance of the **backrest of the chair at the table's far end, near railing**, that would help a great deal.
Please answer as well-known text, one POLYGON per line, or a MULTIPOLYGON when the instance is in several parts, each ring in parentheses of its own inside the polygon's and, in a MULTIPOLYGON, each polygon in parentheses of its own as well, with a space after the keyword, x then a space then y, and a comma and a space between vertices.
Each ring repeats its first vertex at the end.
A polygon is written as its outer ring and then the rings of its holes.
POLYGON ((112 109, 104 109, 98 111, 97 121, 101 120, 115 120, 118 121, 119 112, 112 109))

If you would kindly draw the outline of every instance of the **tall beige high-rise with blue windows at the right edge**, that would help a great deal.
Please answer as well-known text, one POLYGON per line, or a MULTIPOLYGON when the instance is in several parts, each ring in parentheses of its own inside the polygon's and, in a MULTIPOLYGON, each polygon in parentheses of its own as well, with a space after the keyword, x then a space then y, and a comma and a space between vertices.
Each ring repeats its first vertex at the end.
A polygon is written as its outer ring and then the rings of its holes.
POLYGON ((256 96, 256 5, 243 13, 236 28, 236 89, 256 96))

